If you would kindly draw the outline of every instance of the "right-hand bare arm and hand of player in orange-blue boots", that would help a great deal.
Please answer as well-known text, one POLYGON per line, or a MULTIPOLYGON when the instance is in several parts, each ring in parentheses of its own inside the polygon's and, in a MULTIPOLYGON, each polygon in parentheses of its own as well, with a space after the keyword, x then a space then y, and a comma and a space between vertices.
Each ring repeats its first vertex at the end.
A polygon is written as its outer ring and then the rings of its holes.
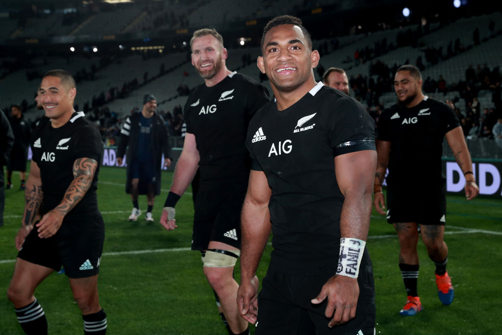
POLYGON ((462 127, 458 126, 450 130, 445 135, 446 141, 453 151, 455 156, 455 161, 462 170, 465 176, 465 196, 467 200, 474 198, 479 194, 479 188, 476 185, 474 174, 466 172, 472 172, 472 161, 469 154, 469 149, 465 143, 464 133, 462 132, 462 127))

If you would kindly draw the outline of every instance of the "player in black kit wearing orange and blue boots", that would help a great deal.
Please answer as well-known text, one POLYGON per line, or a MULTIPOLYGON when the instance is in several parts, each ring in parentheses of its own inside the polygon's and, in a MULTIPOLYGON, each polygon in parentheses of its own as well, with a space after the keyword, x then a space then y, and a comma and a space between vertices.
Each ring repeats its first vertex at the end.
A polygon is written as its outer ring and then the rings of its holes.
POLYGON ((447 104, 422 93, 422 75, 413 65, 400 67, 394 79, 398 103, 379 119, 373 204, 394 225, 399 237, 399 268, 407 292, 401 315, 422 310, 417 292, 420 226, 422 241, 436 265, 438 296, 444 305, 453 301, 454 290, 446 271, 448 247, 446 223, 446 178, 441 171, 443 139, 450 146, 465 177, 468 200, 479 193, 469 150, 460 122, 447 104), (386 178, 386 172, 389 175, 386 178), (387 212, 382 185, 387 179, 387 212))

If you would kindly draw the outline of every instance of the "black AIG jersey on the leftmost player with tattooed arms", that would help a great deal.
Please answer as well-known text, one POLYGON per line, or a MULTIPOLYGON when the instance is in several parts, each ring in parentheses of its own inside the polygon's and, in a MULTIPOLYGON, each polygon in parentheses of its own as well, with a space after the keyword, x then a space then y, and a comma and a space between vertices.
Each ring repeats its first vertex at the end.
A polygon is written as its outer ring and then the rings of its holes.
POLYGON ((59 128, 52 128, 51 121, 43 118, 32 134, 32 160, 40 168, 42 179, 42 213, 54 209, 66 192, 73 177, 73 163, 78 158, 97 161, 90 188, 83 199, 65 216, 97 211, 97 175, 103 155, 103 144, 98 129, 84 118, 83 111, 73 113, 70 121, 59 128))

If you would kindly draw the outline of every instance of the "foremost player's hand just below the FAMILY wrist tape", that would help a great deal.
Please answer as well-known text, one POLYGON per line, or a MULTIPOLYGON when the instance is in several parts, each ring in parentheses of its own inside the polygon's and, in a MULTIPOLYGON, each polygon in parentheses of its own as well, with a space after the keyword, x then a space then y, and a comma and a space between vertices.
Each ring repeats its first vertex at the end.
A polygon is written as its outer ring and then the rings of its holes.
POLYGON ((332 317, 328 327, 345 323, 355 317, 357 300, 359 299, 359 284, 356 278, 336 275, 331 277, 321 288, 321 292, 312 299, 313 304, 321 303, 328 298, 324 315, 332 317))

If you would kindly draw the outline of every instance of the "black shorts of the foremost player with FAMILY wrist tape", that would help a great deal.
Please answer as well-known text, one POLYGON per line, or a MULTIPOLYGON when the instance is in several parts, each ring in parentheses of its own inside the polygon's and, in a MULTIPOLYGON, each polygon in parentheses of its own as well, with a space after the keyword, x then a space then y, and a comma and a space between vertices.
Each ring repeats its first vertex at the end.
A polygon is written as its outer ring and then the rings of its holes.
POLYGON ((310 302, 333 276, 285 274, 269 269, 258 295, 256 335, 277 334, 364 334, 373 335, 375 328, 375 296, 373 270, 367 252, 359 268, 359 299, 356 316, 347 323, 328 327, 325 317, 327 299, 315 305, 310 302), (366 260, 365 260, 366 259, 366 260))

